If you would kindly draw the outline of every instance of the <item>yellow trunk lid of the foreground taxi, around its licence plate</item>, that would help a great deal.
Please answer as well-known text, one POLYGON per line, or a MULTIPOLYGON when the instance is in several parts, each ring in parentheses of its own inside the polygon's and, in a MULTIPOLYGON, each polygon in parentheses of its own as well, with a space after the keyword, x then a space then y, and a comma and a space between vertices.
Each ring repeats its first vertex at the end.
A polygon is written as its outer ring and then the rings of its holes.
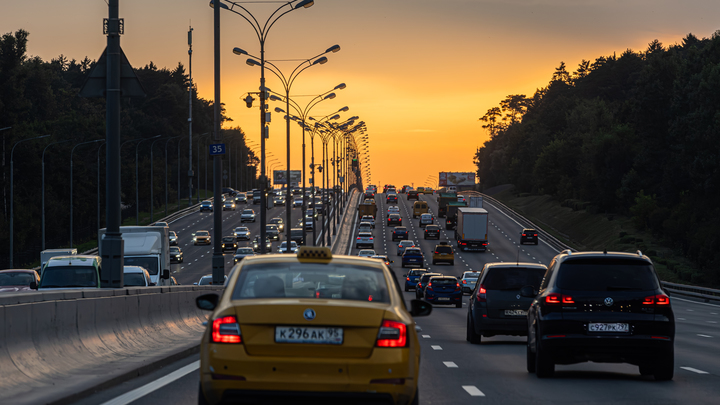
MULTIPOLYGON (((336 299, 277 299, 238 306, 236 314, 250 356, 367 358, 375 347, 387 305, 336 299), (270 307, 272 310, 268 310, 270 307), (306 319, 313 313, 314 319, 306 319), (341 328, 342 343, 276 342, 287 327, 307 332, 308 337, 313 332, 317 336, 318 332, 341 328)), ((289 333, 282 336, 287 337, 289 333)))

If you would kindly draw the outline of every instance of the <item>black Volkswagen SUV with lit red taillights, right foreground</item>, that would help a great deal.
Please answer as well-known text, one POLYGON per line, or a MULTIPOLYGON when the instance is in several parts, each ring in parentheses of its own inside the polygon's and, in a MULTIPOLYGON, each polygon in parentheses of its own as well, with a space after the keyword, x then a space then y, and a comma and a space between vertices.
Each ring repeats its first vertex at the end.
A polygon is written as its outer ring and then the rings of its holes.
MULTIPOLYGON (((532 296, 523 287, 521 296, 532 296)), ((527 315, 527 370, 551 377, 555 364, 630 363, 671 380, 675 316, 652 261, 638 251, 553 258, 527 315)))

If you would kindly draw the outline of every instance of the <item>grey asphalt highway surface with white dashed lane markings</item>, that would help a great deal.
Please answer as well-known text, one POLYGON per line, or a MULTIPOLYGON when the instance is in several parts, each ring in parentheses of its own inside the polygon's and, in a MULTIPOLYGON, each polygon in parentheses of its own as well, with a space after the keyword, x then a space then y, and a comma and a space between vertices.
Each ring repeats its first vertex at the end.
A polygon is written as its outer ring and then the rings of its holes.
MULTIPOLYGON (((375 250, 379 254, 387 254, 394 261, 392 267, 402 285, 406 269, 400 267, 400 258, 396 255, 397 243, 391 240, 392 228, 384 225, 387 215, 385 196, 378 194, 376 199, 378 218, 374 230, 375 250)), ((434 195, 424 195, 421 199, 429 203, 433 213, 437 212, 434 195)), ((515 262, 519 259, 547 264, 557 253, 542 239, 537 246, 519 246, 521 224, 486 202, 484 208, 489 211, 491 221, 490 249, 485 253, 456 251, 454 266, 433 266, 431 254, 437 241, 423 239, 418 219, 412 218, 412 201, 408 202, 405 195, 401 194, 398 205, 403 225, 408 227, 410 237, 425 254, 426 268, 446 275, 460 276, 463 271, 480 270, 485 263, 497 261, 515 262)), ((239 212, 224 214, 227 229, 239 223, 239 212)), ((270 211, 269 217, 278 216, 282 212, 281 208, 276 208, 270 211)), ((202 274, 210 272, 208 252, 211 250, 193 247, 188 242, 191 231, 203 229, 203 223, 210 223, 208 218, 207 214, 194 214, 171 224, 171 229, 181 233, 181 246, 187 249, 186 263, 175 273, 183 283, 196 281, 202 274), (202 221, 200 218, 206 222, 198 222, 202 221), (188 246, 185 246, 186 243, 188 246), (195 259, 198 261, 195 262, 195 259)), ((208 229, 207 226, 204 229, 208 229)), ((257 229, 257 225, 252 229, 257 229)), ((448 237, 452 237, 452 231, 443 230, 440 240, 449 240, 448 237)), ((357 254, 357 250, 353 247, 350 253, 357 254)), ((232 264, 231 256, 227 257, 232 264)), ((404 294, 408 301, 415 298, 413 291, 404 294)), ((418 318, 422 346, 421 404, 720 403, 718 305, 673 297, 677 320, 675 378, 669 382, 655 382, 652 378, 641 377, 636 366, 599 363, 557 366, 554 378, 540 380, 525 369, 525 338, 495 336, 483 338, 481 345, 472 345, 465 340, 465 301, 463 308, 436 306, 429 317, 418 318)), ((193 356, 80 403, 98 404, 117 399, 113 404, 195 404, 198 381, 197 356, 193 356), (160 384, 166 385, 155 389, 160 384), (118 398, 120 395, 125 396, 118 398)))

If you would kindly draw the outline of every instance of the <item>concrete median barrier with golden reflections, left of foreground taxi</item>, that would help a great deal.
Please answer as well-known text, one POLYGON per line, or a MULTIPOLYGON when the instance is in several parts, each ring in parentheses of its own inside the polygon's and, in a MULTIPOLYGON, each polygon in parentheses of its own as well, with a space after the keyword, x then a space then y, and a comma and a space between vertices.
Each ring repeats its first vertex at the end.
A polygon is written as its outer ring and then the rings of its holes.
POLYGON ((197 350, 220 286, 0 296, 0 403, 69 403, 197 350))

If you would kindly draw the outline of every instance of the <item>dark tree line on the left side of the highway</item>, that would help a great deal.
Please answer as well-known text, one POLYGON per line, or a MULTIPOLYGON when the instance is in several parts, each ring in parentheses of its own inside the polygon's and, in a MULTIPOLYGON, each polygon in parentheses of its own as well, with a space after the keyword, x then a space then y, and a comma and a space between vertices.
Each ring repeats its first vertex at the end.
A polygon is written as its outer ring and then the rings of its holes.
MULTIPOLYGON (((63 248, 70 243, 70 159, 72 154, 73 242, 96 238, 98 196, 100 227, 105 211, 105 100, 82 98, 80 88, 95 61, 68 60, 63 55, 50 61, 27 54, 29 33, 18 30, 0 37, 0 137, 2 138, 2 218, 0 220, 0 266, 9 264, 9 222, 11 173, 14 166, 14 266, 39 260, 41 248, 41 200, 44 163, 46 248, 63 248), (49 134, 37 140, 21 140, 49 134), (82 142, 100 140, 79 145, 82 142), (14 151, 13 151, 13 147, 14 151), (44 153, 44 158, 43 158, 44 153), (100 183, 98 184, 98 176, 100 183), (100 193, 98 194, 97 190, 100 193)), ((169 202, 187 204, 188 191, 188 87, 189 77, 178 63, 173 69, 158 68, 153 62, 135 67, 145 88, 144 98, 123 98, 121 116, 121 186, 123 219, 135 217, 136 188, 139 211, 155 218, 169 202), (149 138, 160 135, 157 140, 149 138), (139 140, 148 139, 140 144, 139 140), (139 146, 138 146, 139 145, 139 146), (150 151, 153 152, 153 201, 150 201, 150 151), (136 173, 137 150, 137 187, 136 173), (165 171, 167 151, 167 173, 165 171), (179 159, 178 159, 179 156, 179 159), (167 176, 167 182, 165 181, 167 176), (167 191, 166 191, 167 190, 167 191)), ((213 128, 213 103, 193 91, 193 170, 195 193, 205 187, 206 145, 213 128), (199 148, 199 149, 198 149, 199 148), (198 155, 199 152, 199 155, 198 155), (199 159, 202 156, 201 159, 199 159), (199 164, 198 164, 199 163, 199 164), (200 184, 197 181, 200 171, 200 184)), ((230 121, 224 115, 223 120, 230 121)), ((245 143, 239 127, 223 130, 224 142, 239 157, 224 163, 232 175, 224 186, 255 186, 257 158, 245 143), (239 167, 238 167, 239 166, 239 167), (232 184, 230 184, 232 179, 232 184)), ((212 190, 212 163, 208 166, 208 187, 212 190)), ((201 192, 202 195, 202 192, 201 192)), ((134 222, 133 222, 134 223, 134 222)))

